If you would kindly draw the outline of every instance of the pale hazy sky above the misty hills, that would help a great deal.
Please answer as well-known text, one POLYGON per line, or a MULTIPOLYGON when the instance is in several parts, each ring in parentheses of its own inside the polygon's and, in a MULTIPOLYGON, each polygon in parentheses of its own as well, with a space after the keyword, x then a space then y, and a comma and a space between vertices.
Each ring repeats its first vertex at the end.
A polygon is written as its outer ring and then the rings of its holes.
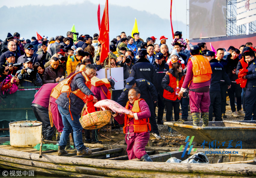
MULTIPOLYGON (((85 1, 85 0, 84 0, 85 1)), ((83 0, 0 0, 0 8, 2 6, 18 7, 26 5, 59 5, 59 4, 79 4, 84 2, 83 0)), ((100 3, 105 5, 105 0, 87 0, 93 4, 100 3)), ((186 24, 186 1, 188 0, 173 0, 173 12, 172 19, 182 21, 186 24), (178 11, 177 11, 178 10, 178 11), (178 17, 177 17, 178 16, 178 17)), ((170 20, 170 0, 109 0, 109 4, 130 6, 139 11, 147 11, 151 14, 156 14, 162 19, 170 20)), ((127 12, 129 14, 129 12, 127 12)), ((102 14, 101 14, 102 15, 102 14)), ((129 14, 132 15, 132 14, 129 14)))

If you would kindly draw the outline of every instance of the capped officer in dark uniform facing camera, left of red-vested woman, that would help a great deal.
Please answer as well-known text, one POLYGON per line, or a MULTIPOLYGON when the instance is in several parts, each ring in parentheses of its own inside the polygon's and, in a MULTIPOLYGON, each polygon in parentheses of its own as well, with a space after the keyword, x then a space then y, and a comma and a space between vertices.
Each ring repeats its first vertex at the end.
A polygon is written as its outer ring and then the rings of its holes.
POLYGON ((155 55, 155 61, 152 63, 153 66, 155 66, 155 71, 157 75, 157 93, 158 93, 158 100, 157 103, 154 103, 154 113, 156 110, 156 107, 158 106, 158 114, 157 114, 157 123, 158 124, 164 124, 163 122, 163 115, 164 115, 164 89, 161 86, 161 81, 164 78, 166 72, 169 71, 169 66, 164 60, 164 55, 162 53, 156 53, 155 55), (158 73, 163 72, 163 73, 158 73))

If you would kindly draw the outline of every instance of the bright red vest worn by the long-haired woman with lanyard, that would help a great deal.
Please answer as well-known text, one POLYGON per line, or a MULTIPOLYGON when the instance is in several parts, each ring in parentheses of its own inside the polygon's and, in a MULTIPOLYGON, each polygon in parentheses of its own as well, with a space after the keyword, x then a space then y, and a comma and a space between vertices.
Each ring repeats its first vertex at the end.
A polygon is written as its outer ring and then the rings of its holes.
MULTIPOLYGON (((168 84, 168 86, 173 88, 173 91, 175 91, 175 89, 177 87, 181 88, 182 84, 183 84, 183 79, 184 76, 181 77, 181 80, 177 82, 176 77, 174 77, 171 73, 167 73, 169 75, 170 78, 170 83, 168 84)), ((177 98, 180 100, 180 98, 178 97, 178 95, 175 95, 175 92, 171 93, 169 91, 167 91, 166 89, 164 89, 164 98, 175 101, 177 98)))

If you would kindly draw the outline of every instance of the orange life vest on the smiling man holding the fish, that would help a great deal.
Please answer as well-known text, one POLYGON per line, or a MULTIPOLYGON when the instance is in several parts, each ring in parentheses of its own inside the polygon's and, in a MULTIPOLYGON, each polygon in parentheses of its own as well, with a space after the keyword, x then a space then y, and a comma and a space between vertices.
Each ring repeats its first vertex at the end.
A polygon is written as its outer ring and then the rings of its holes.
MULTIPOLYGON (((132 107, 132 111, 134 113, 141 112, 140 107, 139 107, 139 101, 141 101, 141 100, 144 100, 144 99, 138 99, 138 100, 134 101, 134 104, 133 104, 133 107, 132 107)), ((129 108, 129 104, 130 104, 130 101, 127 101, 126 107, 125 107, 126 109, 129 108)), ((129 118, 128 118, 127 115, 125 115, 123 133, 126 133, 126 127, 130 125, 128 122, 129 122, 129 118)), ((133 125, 134 133, 142 133, 142 132, 151 131, 149 118, 147 118, 147 119, 138 119, 138 120, 135 120, 133 118, 133 122, 134 122, 134 124, 131 124, 131 125, 133 125)))

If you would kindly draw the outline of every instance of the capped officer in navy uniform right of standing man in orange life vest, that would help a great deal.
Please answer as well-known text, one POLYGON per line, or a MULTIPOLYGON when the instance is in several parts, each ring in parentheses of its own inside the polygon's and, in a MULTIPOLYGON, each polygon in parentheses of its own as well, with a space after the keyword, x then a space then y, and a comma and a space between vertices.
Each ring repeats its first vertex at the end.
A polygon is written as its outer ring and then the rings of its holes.
POLYGON ((207 51, 204 55, 211 65, 211 85, 210 85, 210 100, 209 107, 209 121, 212 121, 212 113, 214 111, 215 121, 222 121, 221 118, 221 94, 220 94, 220 80, 223 79, 231 87, 231 80, 226 74, 223 65, 221 65, 217 59, 214 59, 215 53, 213 51, 207 51))

